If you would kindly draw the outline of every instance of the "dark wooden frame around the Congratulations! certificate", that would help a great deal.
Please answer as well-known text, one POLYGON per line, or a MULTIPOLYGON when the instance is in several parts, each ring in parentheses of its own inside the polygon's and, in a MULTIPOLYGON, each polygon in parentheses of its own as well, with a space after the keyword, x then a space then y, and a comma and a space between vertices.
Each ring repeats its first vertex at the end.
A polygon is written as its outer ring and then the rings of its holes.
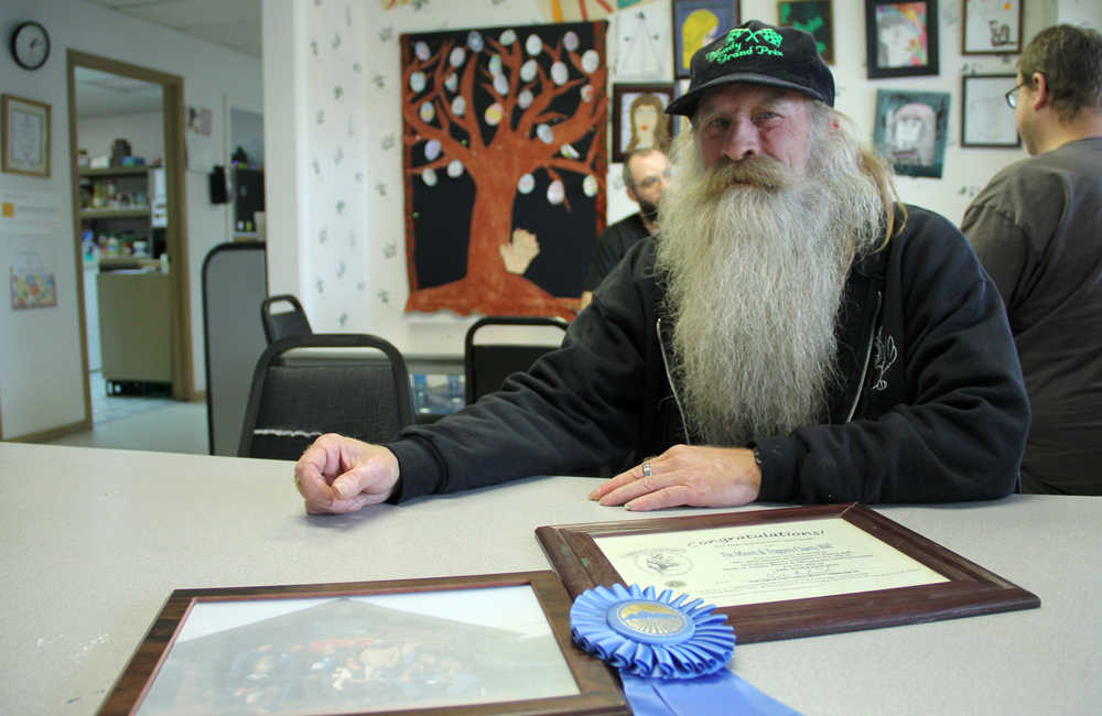
MULTIPOLYGON (((541 527, 537 528, 536 535, 566 589, 572 597, 576 597, 597 585, 623 582, 596 543, 596 540, 606 536, 653 536, 716 528, 760 528, 763 534, 770 536, 776 535, 786 523, 791 523, 795 530, 797 523, 819 524, 829 520, 842 520, 858 528, 901 553, 904 558, 941 575, 943 581, 738 606, 722 606, 720 599, 707 594, 691 596, 716 604, 717 610, 730 618, 741 644, 1028 609, 1040 605, 1040 600, 1029 592, 857 503, 541 527)), ((824 523, 824 527, 832 525, 824 523)), ((647 555, 647 558, 656 558, 656 555, 647 555)), ((662 557, 658 555, 657 558, 662 557)), ((690 561, 691 556, 682 558, 690 561)), ((735 565, 742 555, 724 555, 724 558, 730 558, 735 565)), ((656 588, 679 590, 678 584, 687 577, 678 576, 677 564, 678 555, 673 554, 666 558, 665 565, 659 565, 665 568, 661 578, 673 576, 669 582, 655 585, 656 588)))

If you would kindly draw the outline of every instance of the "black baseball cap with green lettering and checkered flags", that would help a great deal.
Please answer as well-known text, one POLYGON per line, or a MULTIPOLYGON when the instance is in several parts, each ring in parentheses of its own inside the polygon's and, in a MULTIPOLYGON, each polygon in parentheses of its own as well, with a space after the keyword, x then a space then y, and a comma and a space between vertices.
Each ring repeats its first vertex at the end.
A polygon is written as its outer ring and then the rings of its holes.
POLYGON ((744 22, 698 50, 689 70, 689 91, 666 107, 667 115, 692 117, 705 91, 736 82, 787 87, 834 106, 834 76, 815 39, 796 28, 744 22))

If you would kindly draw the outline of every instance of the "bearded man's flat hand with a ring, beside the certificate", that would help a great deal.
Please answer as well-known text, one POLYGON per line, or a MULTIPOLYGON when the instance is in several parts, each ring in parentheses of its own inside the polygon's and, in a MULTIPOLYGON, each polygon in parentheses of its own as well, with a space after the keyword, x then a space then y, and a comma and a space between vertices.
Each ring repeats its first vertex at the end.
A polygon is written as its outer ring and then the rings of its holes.
POLYGON ((761 468, 753 451, 674 445, 603 484, 590 492, 590 499, 645 511, 679 505, 746 505, 760 491, 761 468))

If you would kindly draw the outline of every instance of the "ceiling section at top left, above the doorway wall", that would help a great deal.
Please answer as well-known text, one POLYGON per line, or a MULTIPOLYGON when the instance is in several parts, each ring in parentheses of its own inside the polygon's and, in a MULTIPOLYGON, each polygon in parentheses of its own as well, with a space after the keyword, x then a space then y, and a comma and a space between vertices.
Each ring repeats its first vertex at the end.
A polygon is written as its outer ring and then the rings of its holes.
POLYGON ((260 59, 262 0, 87 0, 260 59))

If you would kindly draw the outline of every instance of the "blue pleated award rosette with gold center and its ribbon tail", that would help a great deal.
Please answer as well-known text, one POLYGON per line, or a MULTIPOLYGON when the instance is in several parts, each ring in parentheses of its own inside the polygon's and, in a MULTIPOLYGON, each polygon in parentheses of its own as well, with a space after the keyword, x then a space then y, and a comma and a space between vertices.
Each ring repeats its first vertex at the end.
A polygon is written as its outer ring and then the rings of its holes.
POLYGON ((726 670, 734 629, 701 599, 634 584, 595 587, 574 600, 570 631, 619 670, 637 716, 798 713, 726 670))

